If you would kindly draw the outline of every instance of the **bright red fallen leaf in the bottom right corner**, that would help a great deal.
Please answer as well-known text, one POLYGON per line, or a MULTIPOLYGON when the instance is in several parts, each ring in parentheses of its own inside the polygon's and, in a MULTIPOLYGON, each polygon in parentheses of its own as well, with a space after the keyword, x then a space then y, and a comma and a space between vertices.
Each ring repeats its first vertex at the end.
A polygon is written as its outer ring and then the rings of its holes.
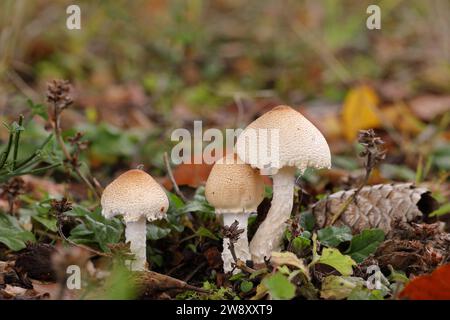
POLYGON ((399 295, 410 300, 450 300, 450 264, 414 278, 399 295))

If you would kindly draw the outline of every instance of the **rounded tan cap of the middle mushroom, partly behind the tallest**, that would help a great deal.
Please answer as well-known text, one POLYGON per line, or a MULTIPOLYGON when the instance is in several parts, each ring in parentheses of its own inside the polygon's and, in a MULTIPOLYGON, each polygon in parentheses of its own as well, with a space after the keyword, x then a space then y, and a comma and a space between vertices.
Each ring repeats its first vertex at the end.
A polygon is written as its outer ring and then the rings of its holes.
POLYGON ((217 213, 255 212, 264 199, 264 181, 258 170, 231 153, 212 167, 205 196, 217 213))

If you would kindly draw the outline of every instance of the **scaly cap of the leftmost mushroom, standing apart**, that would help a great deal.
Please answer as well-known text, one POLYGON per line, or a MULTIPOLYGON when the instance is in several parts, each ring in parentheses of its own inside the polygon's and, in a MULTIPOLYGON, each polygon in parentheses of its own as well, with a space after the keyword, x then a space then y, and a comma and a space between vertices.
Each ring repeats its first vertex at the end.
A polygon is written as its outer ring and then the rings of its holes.
POLYGON ((105 188, 101 204, 106 218, 123 215, 125 222, 136 222, 142 216, 146 216, 148 221, 162 219, 169 200, 149 174, 133 169, 121 174, 105 188))

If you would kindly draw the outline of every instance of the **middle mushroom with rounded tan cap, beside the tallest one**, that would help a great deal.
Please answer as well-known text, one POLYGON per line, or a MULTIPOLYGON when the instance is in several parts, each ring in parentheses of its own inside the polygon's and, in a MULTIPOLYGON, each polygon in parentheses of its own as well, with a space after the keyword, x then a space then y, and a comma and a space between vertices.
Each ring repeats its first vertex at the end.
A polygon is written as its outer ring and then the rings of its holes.
MULTIPOLYGON (((238 221, 238 229, 244 229, 234 245, 236 258, 251 259, 247 239, 247 222, 250 213, 264 199, 264 183, 259 172, 243 163, 236 154, 228 154, 219 159, 211 169, 206 181, 205 196, 223 218, 224 226, 238 221)), ((232 270, 233 257, 229 250, 229 239, 223 239, 223 269, 232 270)))

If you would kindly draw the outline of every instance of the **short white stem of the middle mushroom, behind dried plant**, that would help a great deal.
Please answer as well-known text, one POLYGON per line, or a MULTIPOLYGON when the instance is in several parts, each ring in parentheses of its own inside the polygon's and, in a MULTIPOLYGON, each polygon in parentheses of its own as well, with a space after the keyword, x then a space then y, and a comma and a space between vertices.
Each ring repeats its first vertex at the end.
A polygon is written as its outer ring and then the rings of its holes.
MULTIPOLYGON (((244 232, 239 235, 239 239, 234 244, 234 252, 236 253, 236 258, 242 261, 247 261, 251 259, 250 251, 248 248, 248 239, 247 239, 247 224, 248 217, 250 213, 238 212, 231 213, 226 212, 222 213, 223 215, 223 225, 231 226, 234 221, 238 221, 238 229, 244 229, 244 232)), ((223 270, 225 272, 230 272, 233 267, 232 263, 234 263, 233 256, 229 249, 230 239, 223 238, 223 251, 222 251, 222 260, 223 260, 223 270)), ((238 273, 239 270, 235 270, 234 273, 238 273)))

